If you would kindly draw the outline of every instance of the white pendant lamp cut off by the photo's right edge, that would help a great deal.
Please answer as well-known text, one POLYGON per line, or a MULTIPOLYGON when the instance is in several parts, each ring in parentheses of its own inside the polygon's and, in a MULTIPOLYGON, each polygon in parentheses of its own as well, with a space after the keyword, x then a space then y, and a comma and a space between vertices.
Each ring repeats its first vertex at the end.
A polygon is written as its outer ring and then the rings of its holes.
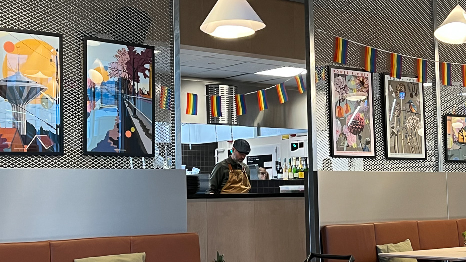
POLYGON ((465 10, 460 5, 453 8, 444 22, 435 30, 434 36, 444 43, 466 43, 465 10))

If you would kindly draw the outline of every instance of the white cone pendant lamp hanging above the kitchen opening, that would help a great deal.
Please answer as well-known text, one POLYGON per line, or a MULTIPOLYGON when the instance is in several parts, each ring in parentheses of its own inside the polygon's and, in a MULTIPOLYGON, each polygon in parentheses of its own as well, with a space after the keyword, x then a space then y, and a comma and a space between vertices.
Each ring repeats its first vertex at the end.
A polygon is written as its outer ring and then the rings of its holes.
POLYGON ((234 39, 252 35, 264 27, 247 0, 218 0, 200 29, 214 37, 234 39))

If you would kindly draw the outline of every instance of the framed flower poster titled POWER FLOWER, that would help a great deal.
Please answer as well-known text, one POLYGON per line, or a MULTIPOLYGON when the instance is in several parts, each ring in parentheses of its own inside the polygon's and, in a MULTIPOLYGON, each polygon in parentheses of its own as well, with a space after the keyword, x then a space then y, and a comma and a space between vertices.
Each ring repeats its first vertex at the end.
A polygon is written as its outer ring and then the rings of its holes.
POLYGON ((372 74, 332 66, 329 71, 331 156, 374 158, 372 74))

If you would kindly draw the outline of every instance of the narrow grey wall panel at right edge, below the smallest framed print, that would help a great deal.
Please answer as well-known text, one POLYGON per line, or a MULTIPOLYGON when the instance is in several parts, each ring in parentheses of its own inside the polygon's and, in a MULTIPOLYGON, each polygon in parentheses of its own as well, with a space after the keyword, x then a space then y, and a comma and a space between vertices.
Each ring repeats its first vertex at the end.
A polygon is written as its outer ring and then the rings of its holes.
POLYGON ((466 174, 447 172, 449 218, 466 218, 466 174))

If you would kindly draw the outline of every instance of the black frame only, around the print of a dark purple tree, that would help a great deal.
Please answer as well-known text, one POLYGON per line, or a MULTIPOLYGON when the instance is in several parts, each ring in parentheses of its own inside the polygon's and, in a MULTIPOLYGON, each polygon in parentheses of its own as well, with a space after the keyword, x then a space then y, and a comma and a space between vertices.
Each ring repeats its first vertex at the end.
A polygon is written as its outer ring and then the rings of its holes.
MULTIPOLYGON (((107 39, 100 39, 95 37, 84 37, 83 41, 84 45, 84 71, 83 71, 83 121, 84 121, 84 130, 83 130, 83 154, 84 155, 98 155, 98 156, 130 156, 130 157, 153 157, 155 154, 155 48, 154 46, 150 45, 141 45, 141 44, 133 44, 128 42, 121 42, 121 41, 114 41, 114 40, 107 40, 107 39), (87 151, 87 40, 102 42, 102 43, 110 43, 110 44, 117 44, 117 45, 125 45, 125 46, 134 46, 138 48, 146 48, 150 49, 152 54, 152 62, 151 62, 151 72, 150 77, 152 77, 152 153, 151 154, 137 154, 137 153, 126 153, 126 152, 118 152, 118 153, 110 153, 110 152, 92 152, 87 151)), ((120 131, 121 132, 121 131, 120 131)), ((124 135, 121 133, 121 135, 124 135)))

